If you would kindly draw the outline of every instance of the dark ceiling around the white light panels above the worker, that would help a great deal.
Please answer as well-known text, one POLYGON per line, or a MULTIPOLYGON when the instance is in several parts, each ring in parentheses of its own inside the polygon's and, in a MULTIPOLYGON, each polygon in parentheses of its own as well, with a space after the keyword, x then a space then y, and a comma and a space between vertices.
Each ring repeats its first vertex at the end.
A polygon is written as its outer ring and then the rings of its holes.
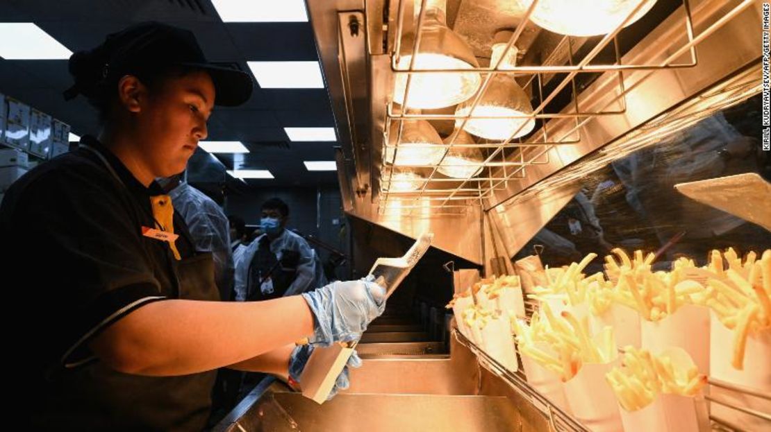
MULTIPOLYGON (((281 1, 281 0, 277 0, 281 1)), ((195 33, 212 62, 318 61, 310 22, 224 23, 210 0, 3 0, 0 22, 34 22, 70 51, 90 49, 105 35, 134 22, 156 20, 195 33)), ((251 72, 250 72, 251 73, 251 72)), ((66 60, 0 59, 0 92, 69 123, 78 135, 98 132, 85 99, 65 102, 71 85, 66 60)), ((251 187, 333 185, 335 172, 308 172, 304 160, 334 160, 336 142, 290 142, 284 127, 334 127, 327 89, 260 89, 237 108, 218 108, 209 121, 209 140, 241 141, 251 152, 241 168, 269 169, 275 179, 247 180, 251 187)), ((202 149, 196 159, 211 158, 202 149)), ((231 155, 217 158, 233 168, 231 155)), ((203 183, 222 183, 221 170, 206 169, 203 183), (209 173, 213 172, 214 177, 209 173)), ((201 173, 203 174, 203 172, 201 173)), ((227 178, 229 189, 244 184, 227 178)))

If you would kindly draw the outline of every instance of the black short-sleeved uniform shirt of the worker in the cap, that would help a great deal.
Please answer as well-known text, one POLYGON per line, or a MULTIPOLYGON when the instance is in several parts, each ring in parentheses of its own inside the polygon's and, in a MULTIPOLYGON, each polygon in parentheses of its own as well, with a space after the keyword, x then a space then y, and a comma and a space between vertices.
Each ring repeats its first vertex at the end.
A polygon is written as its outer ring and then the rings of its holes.
MULTIPOLYGON (((157 184, 143 186, 88 136, 81 148, 42 163, 8 189, 0 207, 2 266, 19 282, 5 286, 4 303, 22 316, 8 329, 23 379, 19 393, 36 393, 19 402, 40 406, 46 397, 66 397, 72 389, 52 396, 52 387, 62 387, 58 377, 69 370, 93 363, 88 344, 100 330, 146 303, 179 296, 170 246, 142 235, 143 226, 157 228, 150 196, 160 194, 157 184)), ((180 255, 193 256, 176 214, 174 226, 180 255)), ((79 397, 87 405, 99 395, 79 397)))

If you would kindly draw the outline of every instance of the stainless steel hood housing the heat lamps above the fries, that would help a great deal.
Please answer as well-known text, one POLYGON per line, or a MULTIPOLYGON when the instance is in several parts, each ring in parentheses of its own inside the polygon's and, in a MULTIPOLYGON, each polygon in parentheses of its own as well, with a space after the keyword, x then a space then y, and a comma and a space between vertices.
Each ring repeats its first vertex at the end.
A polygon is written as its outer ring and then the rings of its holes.
MULTIPOLYGON (((449 0, 446 21, 469 42, 482 76, 503 73, 486 73, 493 71, 493 35, 516 30, 509 44, 520 50, 520 60, 507 73, 542 105, 534 103, 536 131, 522 141, 483 142, 487 159, 476 178, 453 181, 427 168, 430 181, 419 193, 400 195, 381 184, 392 172, 383 162, 383 146, 391 142, 384 134, 411 116, 390 103, 392 55, 399 33, 421 25, 423 14, 414 13, 411 0, 308 0, 342 140, 338 171, 348 214, 412 237, 431 229, 439 249, 473 263, 511 256, 574 193, 565 184, 534 186, 759 61, 761 6, 752 0, 659 0, 647 22, 618 38, 620 29, 590 39, 541 30, 526 19, 532 11, 510 6, 515 3, 449 0), (530 189, 538 193, 523 194, 530 189)), ((746 73, 756 73, 759 82, 759 70, 746 73)), ((418 118, 447 135, 453 112, 431 110, 418 118)))

